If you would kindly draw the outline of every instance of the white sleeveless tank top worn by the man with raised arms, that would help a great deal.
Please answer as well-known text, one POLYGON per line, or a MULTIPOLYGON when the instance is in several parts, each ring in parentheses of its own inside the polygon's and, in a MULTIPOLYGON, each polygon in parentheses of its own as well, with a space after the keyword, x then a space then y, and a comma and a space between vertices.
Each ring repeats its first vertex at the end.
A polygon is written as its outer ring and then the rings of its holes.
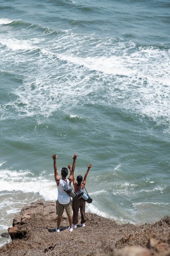
MULTIPOLYGON (((69 180, 66 181, 69 184, 69 180)), ((57 186, 58 189, 58 202, 60 204, 68 204, 71 200, 71 197, 64 191, 64 185, 66 182, 62 179, 60 179, 59 186, 57 186)))

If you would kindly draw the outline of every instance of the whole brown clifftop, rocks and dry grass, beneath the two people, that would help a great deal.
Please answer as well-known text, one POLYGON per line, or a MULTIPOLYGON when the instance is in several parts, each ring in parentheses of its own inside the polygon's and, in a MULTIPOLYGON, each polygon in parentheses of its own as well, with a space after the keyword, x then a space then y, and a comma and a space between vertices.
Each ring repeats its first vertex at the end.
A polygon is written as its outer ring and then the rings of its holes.
POLYGON ((0 247, 0 255, 170 255, 170 216, 147 225, 134 225, 117 224, 86 213, 85 227, 78 225, 70 232, 64 213, 59 233, 55 232, 56 224, 55 202, 39 200, 27 204, 8 229, 13 240, 0 247))

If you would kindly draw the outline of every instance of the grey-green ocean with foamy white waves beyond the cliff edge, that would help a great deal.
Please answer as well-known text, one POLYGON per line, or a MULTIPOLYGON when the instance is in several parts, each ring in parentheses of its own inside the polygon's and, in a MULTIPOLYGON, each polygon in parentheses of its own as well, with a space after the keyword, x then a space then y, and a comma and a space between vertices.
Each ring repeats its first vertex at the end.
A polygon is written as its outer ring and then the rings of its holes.
POLYGON ((53 153, 93 164, 86 211, 170 215, 169 149, 169 0, 0 0, 0 234, 57 199, 53 153))

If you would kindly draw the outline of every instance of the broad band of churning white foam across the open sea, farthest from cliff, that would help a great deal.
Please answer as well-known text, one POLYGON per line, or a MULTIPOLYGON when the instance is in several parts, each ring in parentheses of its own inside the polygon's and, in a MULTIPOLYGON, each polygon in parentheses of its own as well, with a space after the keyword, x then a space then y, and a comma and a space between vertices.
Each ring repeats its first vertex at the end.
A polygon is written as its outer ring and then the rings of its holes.
MULTIPOLYGON (((69 111, 71 107, 69 102, 72 106, 79 103, 84 105, 87 95, 94 92, 95 97, 88 97, 89 103, 104 101, 111 105, 121 105, 134 114, 152 118, 158 125, 165 124, 167 129, 170 122, 170 52, 157 47, 137 47, 131 41, 120 39, 112 42, 104 39, 103 42, 102 39, 98 39, 99 42, 97 42, 96 39, 94 40, 96 46, 104 43, 105 47, 101 48, 101 51, 105 52, 103 56, 99 56, 101 52, 94 47, 92 56, 88 56, 88 51, 91 52, 91 40, 87 41, 85 37, 81 38, 65 32, 53 39, 52 44, 49 41, 49 45, 44 47, 35 36, 26 40, 1 38, 0 43, 7 47, 4 49, 3 56, 8 56, 9 53, 11 55, 9 52, 11 49, 18 51, 18 54, 11 56, 11 61, 14 58, 13 61, 21 65, 21 68, 22 63, 28 65, 32 63, 29 65, 28 72, 24 72, 26 78, 23 84, 13 92, 17 100, 2 106, 1 110, 6 111, 6 108, 11 106, 18 111, 18 117, 31 117, 37 114, 48 117, 53 111, 60 110, 63 106, 66 111, 69 111), (114 49, 110 48, 111 43, 114 49), (64 50, 59 52, 61 44, 64 50), (87 54, 81 56, 73 47, 76 46, 81 51, 84 44, 86 44, 87 54), (40 54, 38 59, 34 55, 37 49, 40 54), (20 51, 23 52, 22 55, 19 54, 20 51), (30 51, 30 54, 24 54, 26 51, 30 51), (41 69, 39 65, 42 66, 41 69), (60 80, 55 74, 55 70, 58 69, 61 72, 60 80), (30 76, 32 73, 34 79, 32 75, 30 76), (106 85, 103 88, 104 83, 106 85), (55 90, 56 87, 57 90, 55 90), (101 90, 104 100, 100 96, 101 90)), ((3 56, 2 63, 4 62, 5 65, 6 59, 3 56)), ((3 118, 5 118, 4 115, 3 118)))

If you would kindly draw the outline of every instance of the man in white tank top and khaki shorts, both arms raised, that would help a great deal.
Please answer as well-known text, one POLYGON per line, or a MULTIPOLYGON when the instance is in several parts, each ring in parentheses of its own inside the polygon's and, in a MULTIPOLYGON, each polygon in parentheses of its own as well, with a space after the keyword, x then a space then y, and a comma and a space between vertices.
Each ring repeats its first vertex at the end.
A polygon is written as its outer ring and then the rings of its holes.
POLYGON ((73 177, 74 177, 74 170, 75 170, 75 161, 77 158, 77 154, 74 154, 74 156, 72 155, 73 158, 73 165, 70 171, 70 176, 68 177, 68 179, 66 178, 66 176, 68 175, 68 169, 63 167, 62 171, 61 171, 61 175, 62 178, 60 179, 59 175, 58 175, 58 171, 57 171, 57 163, 56 163, 56 159, 57 159, 56 154, 53 154, 53 165, 54 165, 54 177, 55 177, 55 181, 57 183, 57 189, 58 189, 58 199, 56 202, 56 213, 57 213, 57 228, 56 231, 60 232, 60 223, 62 220, 62 215, 64 212, 64 209, 66 210, 67 216, 68 216, 68 221, 70 224, 70 227, 68 228, 70 231, 73 231, 72 228, 72 201, 71 201, 71 197, 64 191, 64 185, 66 183, 68 183, 69 185, 71 185, 71 182, 73 181, 73 177))

